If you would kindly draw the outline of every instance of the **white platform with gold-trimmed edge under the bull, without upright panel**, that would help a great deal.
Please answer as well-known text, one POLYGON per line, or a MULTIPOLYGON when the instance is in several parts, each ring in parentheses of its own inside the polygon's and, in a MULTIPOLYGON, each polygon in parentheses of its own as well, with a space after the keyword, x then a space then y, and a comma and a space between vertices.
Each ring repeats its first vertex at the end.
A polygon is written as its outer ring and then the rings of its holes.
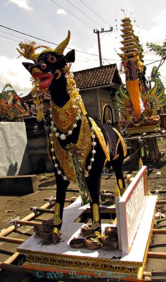
MULTIPOLYGON (((89 250, 85 247, 70 247, 72 238, 81 238, 80 228, 84 223, 76 223, 87 205, 81 207, 80 200, 65 209, 60 243, 41 245, 40 238, 32 235, 18 247, 18 252, 26 256, 23 271, 38 278, 59 281, 143 281, 148 246, 151 240, 156 196, 149 196, 136 238, 128 255, 115 250, 89 250), (68 232, 67 232, 68 231, 68 232), (64 280, 63 280, 64 279, 64 280)), ((109 207, 108 207, 109 209, 109 207)), ((110 224, 102 224, 102 230, 110 224)))

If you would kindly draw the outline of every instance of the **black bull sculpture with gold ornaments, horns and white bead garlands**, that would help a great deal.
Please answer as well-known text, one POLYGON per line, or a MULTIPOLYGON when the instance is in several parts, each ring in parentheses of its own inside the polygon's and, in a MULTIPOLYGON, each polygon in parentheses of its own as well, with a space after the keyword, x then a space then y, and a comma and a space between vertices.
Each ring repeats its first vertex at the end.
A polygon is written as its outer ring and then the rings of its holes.
MULTIPOLYGON (((75 50, 65 56, 63 51, 68 37, 56 49, 44 49, 31 55, 18 51, 34 63, 23 63, 32 77, 39 82, 41 91, 51 94, 50 153, 56 174, 56 207, 53 216, 53 237, 60 238, 63 220, 65 193, 70 181, 77 182, 84 195, 89 195, 92 226, 95 235, 101 234, 99 192, 101 173, 106 164, 112 166, 120 194, 125 191, 122 164, 125 157, 125 142, 112 125, 99 123, 87 114, 84 104, 70 73, 70 64, 75 61, 75 50)), ((37 49, 37 48, 36 48, 37 49)), ((29 48, 30 50, 30 48, 29 48)))

